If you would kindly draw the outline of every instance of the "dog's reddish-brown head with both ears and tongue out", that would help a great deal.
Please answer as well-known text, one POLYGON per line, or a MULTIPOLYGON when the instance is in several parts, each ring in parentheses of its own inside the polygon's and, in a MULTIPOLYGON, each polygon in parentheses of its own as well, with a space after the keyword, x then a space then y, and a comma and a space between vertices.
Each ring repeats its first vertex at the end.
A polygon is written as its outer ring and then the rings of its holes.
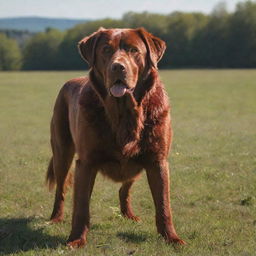
POLYGON ((79 42, 96 80, 114 97, 133 92, 151 69, 157 69, 165 48, 161 39, 143 28, 100 28, 79 42))

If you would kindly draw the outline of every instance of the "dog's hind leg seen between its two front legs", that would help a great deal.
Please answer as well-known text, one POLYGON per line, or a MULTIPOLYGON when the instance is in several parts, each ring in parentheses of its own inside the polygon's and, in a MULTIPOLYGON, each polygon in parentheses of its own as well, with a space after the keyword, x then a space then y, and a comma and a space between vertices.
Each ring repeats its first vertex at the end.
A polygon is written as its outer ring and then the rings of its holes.
POLYGON ((121 208, 121 213, 125 218, 131 219, 134 221, 140 221, 140 218, 134 215, 132 206, 131 206, 130 191, 134 181, 135 180, 130 180, 122 184, 119 190, 120 208, 121 208))

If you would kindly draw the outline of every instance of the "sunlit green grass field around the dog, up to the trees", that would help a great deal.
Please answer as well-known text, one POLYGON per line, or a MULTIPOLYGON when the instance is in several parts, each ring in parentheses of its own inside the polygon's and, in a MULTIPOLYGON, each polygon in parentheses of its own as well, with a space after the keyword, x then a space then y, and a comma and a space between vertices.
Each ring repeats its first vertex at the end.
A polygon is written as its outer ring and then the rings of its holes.
POLYGON ((120 216, 119 184, 98 175, 88 245, 65 247, 72 193, 65 222, 49 224, 49 121, 61 85, 83 74, 0 73, 0 255, 256 255, 256 70, 161 71, 174 128, 171 202, 187 246, 157 235, 143 174, 132 193, 141 223, 120 216))

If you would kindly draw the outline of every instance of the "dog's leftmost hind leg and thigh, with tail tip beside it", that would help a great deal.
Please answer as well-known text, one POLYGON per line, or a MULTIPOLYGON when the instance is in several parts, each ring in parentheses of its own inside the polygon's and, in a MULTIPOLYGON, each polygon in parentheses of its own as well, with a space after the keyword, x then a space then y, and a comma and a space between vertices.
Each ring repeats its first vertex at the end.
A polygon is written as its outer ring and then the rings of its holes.
POLYGON ((56 183, 55 201, 51 215, 52 222, 59 222, 63 219, 66 186, 68 183, 71 183, 71 174, 68 171, 75 150, 69 129, 67 112, 65 103, 63 104, 59 95, 51 122, 53 157, 49 163, 47 172, 49 187, 52 188, 56 183))

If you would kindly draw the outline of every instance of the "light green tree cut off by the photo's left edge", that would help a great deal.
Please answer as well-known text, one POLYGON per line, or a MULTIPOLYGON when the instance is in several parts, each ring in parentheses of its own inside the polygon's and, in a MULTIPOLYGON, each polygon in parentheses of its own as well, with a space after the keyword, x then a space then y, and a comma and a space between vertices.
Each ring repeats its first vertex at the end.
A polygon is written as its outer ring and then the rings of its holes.
POLYGON ((21 52, 15 40, 0 34, 0 70, 18 70, 21 52))

